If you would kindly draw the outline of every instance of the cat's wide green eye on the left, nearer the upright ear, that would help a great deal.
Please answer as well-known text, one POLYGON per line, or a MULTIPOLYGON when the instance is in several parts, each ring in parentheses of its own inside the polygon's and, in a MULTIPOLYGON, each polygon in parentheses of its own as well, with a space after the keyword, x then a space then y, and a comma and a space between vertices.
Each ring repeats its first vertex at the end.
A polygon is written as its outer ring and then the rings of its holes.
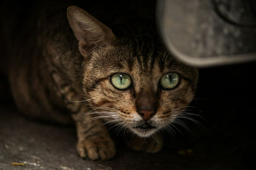
POLYGON ((124 73, 116 73, 111 76, 111 83, 116 89, 124 90, 130 87, 131 77, 124 73))

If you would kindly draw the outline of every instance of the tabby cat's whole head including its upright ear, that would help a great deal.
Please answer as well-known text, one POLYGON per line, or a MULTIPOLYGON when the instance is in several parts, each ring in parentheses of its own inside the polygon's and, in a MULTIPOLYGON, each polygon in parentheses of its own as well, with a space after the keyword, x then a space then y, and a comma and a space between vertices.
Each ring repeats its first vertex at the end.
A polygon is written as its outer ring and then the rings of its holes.
POLYGON ((84 57, 84 93, 95 118, 147 137, 182 114, 198 72, 173 59, 154 29, 141 24, 115 36, 81 8, 69 7, 67 16, 84 57))

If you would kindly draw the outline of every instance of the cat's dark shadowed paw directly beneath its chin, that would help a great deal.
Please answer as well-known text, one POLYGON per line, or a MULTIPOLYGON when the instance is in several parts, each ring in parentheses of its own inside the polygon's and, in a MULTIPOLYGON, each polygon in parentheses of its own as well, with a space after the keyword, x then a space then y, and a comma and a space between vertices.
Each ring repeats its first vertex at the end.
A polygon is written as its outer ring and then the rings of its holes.
POLYGON ((147 153, 159 152, 163 147, 163 138, 154 134, 151 138, 140 138, 133 136, 131 139, 125 139, 127 146, 132 150, 143 151, 147 153))

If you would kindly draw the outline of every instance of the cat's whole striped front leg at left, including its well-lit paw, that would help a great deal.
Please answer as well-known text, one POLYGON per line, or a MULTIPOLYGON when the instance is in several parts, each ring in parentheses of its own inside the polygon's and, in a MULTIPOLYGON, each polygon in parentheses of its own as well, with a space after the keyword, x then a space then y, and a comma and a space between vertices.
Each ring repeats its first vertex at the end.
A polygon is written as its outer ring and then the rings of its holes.
POLYGON ((61 98, 65 100, 76 122, 77 152, 80 157, 90 160, 111 159, 116 153, 114 142, 102 122, 88 114, 87 104, 79 102, 83 100, 82 92, 77 92, 77 88, 65 83, 58 73, 53 74, 53 78, 58 84, 61 98), (78 102, 70 102, 77 100, 78 102))

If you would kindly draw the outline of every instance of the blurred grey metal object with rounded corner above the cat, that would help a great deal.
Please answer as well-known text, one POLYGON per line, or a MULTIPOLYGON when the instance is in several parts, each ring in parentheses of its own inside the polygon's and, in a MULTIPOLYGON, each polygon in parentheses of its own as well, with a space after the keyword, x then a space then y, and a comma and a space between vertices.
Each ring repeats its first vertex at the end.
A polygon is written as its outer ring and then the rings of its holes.
POLYGON ((158 0, 157 22, 167 48, 186 64, 256 60, 254 0, 158 0))

